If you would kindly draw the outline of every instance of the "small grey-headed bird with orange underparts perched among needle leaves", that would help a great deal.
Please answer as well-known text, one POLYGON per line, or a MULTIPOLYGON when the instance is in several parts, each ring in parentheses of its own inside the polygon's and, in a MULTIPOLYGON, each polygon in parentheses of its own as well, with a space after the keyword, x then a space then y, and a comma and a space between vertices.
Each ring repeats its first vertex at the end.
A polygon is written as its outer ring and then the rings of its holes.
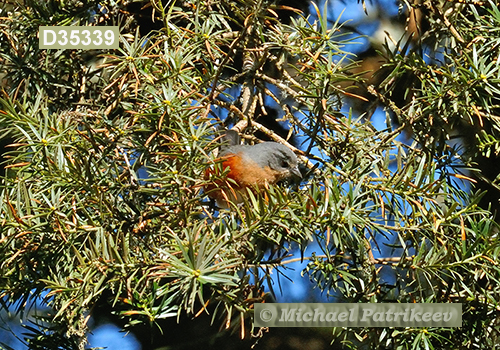
POLYGON ((216 163, 220 167, 208 168, 206 178, 219 177, 205 186, 205 192, 219 208, 228 209, 230 202, 244 201, 247 188, 258 190, 283 180, 302 178, 295 153, 277 142, 262 142, 256 145, 241 145, 235 130, 228 130, 216 163), (225 173, 227 171, 227 173, 225 173), (220 178, 225 174, 225 178, 220 178))

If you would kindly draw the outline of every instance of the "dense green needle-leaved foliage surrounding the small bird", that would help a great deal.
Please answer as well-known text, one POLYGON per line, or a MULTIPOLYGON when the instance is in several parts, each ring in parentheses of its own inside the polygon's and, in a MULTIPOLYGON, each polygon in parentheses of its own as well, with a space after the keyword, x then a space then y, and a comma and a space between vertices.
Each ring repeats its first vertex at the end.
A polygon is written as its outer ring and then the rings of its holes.
POLYGON ((262 336, 252 305, 295 258, 337 300, 463 303, 462 328, 335 329, 345 347, 496 346, 498 197, 475 187, 498 186, 493 2, 402 4, 428 28, 383 53, 376 86, 352 73, 353 39, 326 5, 307 18, 261 0, 151 1, 134 16, 126 1, 62 3, 6 4, 0 22, 0 296, 54 310, 32 348, 83 349, 102 303, 132 331, 207 312, 262 336), (119 25, 120 49, 39 50, 40 25, 119 25), (366 100, 360 86, 387 128, 342 109, 366 100), (204 174, 223 128, 292 148, 300 186, 214 208, 204 174))

